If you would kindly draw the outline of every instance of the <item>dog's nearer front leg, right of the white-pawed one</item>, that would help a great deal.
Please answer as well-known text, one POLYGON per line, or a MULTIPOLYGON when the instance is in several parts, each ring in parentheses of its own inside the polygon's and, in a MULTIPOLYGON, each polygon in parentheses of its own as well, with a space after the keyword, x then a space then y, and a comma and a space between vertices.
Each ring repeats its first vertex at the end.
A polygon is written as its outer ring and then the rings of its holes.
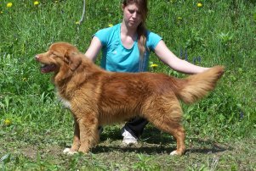
POLYGON ((78 124, 81 142, 78 152, 88 153, 89 149, 99 141, 98 119, 94 117, 94 114, 88 114, 79 119, 78 124))

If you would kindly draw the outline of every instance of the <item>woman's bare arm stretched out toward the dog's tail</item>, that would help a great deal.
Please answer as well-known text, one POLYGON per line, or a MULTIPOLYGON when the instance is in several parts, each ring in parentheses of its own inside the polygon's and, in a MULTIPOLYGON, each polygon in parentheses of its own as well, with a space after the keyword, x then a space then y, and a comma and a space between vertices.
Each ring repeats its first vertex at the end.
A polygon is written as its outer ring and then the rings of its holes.
POLYGON ((189 63, 185 60, 176 57, 174 53, 168 49, 164 41, 159 41, 159 43, 156 45, 155 53, 158 56, 158 58, 162 60, 163 63, 168 64, 169 67, 181 73, 196 74, 208 69, 196 66, 192 63, 189 63))

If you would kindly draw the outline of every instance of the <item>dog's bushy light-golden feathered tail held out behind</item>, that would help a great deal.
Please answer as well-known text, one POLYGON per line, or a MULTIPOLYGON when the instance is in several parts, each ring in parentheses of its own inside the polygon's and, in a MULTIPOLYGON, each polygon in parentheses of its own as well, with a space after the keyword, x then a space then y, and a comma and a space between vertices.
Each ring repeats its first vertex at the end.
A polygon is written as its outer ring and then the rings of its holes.
POLYGON ((182 83, 179 83, 176 95, 185 103, 196 102, 214 89, 224 69, 223 66, 215 66, 203 73, 193 74, 185 80, 178 80, 182 83))

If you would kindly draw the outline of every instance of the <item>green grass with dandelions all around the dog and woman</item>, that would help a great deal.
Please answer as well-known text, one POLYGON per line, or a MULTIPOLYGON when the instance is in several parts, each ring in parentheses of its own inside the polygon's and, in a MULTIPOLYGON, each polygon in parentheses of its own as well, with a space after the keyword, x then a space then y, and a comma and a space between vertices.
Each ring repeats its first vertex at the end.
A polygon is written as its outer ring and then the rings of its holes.
MULTIPOLYGON (((256 8, 238 0, 150 1, 147 26, 191 63, 225 65, 216 90, 183 105, 187 152, 169 156, 173 138, 149 124, 138 146, 121 146, 122 124, 105 127, 88 155, 71 146, 72 118, 54 95, 49 74, 34 55, 54 41, 85 52, 95 31, 121 22, 119 0, 6 1, 0 3, 0 167, 3 170, 255 170, 256 8), (7 3, 13 3, 7 8, 7 3)), ((99 63, 99 61, 97 61, 99 63)), ((184 77, 151 54, 156 68, 184 77)))

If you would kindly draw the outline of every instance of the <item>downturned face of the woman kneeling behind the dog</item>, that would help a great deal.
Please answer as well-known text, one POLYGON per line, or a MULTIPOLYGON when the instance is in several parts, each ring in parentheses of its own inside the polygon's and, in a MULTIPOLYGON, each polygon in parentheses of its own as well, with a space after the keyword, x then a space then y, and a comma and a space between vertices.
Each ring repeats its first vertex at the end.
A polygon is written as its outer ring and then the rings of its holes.
POLYGON ((129 3, 127 6, 122 5, 123 20, 128 27, 136 29, 142 21, 141 13, 137 3, 129 3))

